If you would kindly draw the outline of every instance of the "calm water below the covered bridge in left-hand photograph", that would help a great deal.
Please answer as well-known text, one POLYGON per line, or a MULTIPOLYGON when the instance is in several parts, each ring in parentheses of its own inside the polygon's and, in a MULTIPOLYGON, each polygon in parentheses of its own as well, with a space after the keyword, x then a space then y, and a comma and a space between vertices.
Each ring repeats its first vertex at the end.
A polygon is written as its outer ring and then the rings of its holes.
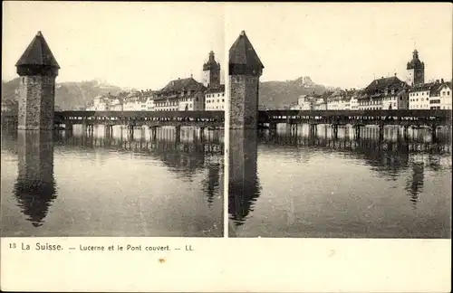
POLYGON ((2 131, 3 236, 223 235, 223 131, 2 131))

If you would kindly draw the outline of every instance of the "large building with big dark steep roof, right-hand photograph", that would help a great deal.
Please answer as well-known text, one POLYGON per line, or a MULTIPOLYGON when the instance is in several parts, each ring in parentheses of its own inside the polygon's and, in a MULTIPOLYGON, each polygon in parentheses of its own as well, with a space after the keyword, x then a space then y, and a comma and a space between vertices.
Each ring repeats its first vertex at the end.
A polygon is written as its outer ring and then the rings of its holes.
POLYGON ((395 76, 373 80, 361 91, 358 109, 408 109, 409 86, 395 76))

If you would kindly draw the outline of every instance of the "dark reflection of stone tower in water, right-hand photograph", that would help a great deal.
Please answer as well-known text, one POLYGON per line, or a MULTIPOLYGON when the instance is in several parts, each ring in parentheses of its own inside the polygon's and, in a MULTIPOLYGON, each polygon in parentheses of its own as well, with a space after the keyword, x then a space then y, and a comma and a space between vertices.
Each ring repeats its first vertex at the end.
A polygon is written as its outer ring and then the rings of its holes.
POLYGON ((235 226, 246 221, 260 195, 257 140, 255 130, 229 130, 228 213, 234 223, 230 225, 231 235, 235 234, 235 226))

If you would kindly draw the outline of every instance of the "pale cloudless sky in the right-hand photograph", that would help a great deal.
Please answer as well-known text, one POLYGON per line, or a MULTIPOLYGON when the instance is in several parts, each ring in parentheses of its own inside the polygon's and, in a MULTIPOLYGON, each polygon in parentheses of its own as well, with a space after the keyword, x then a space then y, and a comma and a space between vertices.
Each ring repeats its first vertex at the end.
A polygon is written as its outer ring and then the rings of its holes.
POLYGON ((265 65, 261 80, 310 76, 343 89, 374 78, 406 78, 416 47, 425 80, 451 79, 452 5, 229 4, 226 43, 246 31, 265 65))

